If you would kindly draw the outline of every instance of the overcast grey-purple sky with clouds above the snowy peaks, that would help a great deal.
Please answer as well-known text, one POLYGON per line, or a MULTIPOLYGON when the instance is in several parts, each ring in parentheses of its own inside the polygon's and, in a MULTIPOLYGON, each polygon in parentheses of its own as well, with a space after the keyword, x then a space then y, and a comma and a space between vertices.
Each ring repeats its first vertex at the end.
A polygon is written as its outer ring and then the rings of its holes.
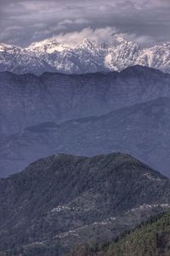
POLYGON ((170 41, 170 0, 0 0, 0 41, 27 46, 45 38, 110 38, 145 46, 170 41))

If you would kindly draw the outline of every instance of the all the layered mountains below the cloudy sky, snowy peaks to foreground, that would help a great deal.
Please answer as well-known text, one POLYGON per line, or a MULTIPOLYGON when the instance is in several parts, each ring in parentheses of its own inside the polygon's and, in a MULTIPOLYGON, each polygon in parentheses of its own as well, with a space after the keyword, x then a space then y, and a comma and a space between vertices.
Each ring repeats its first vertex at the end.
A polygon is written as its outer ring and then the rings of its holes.
POLYGON ((169 146, 170 43, 0 44, 0 255, 169 255, 169 146))

